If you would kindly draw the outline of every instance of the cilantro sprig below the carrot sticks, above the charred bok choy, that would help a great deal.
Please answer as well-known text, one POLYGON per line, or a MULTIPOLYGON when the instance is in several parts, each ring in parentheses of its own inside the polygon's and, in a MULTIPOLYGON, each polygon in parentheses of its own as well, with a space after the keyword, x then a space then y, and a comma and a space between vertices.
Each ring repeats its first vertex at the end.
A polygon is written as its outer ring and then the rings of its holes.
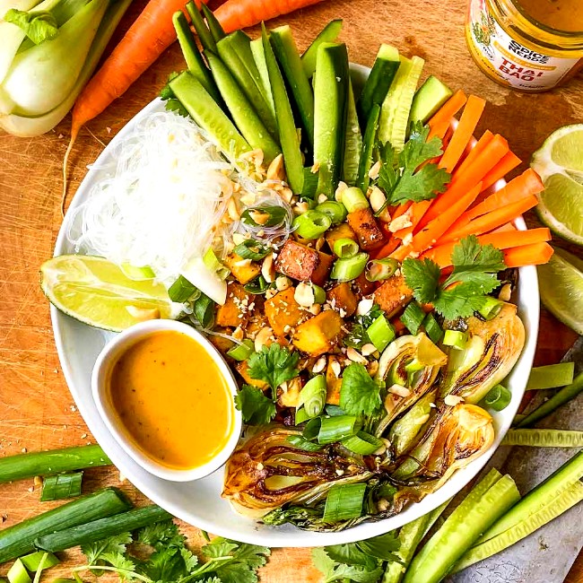
POLYGON ((402 272, 413 297, 432 303, 444 318, 467 318, 483 308, 487 294, 500 281, 496 274, 506 268, 500 249, 480 245, 475 235, 461 239, 451 254, 453 271, 439 283, 441 270, 431 259, 405 259, 402 272))

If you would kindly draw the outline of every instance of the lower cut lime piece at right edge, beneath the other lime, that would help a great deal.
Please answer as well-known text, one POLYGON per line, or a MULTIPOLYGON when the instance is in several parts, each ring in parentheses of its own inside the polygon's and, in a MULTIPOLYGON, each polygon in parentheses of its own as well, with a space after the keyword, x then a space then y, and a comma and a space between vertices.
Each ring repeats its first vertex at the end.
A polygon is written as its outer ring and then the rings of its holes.
POLYGON ((554 251, 536 268, 541 300, 555 318, 583 334, 583 261, 563 249, 554 251))

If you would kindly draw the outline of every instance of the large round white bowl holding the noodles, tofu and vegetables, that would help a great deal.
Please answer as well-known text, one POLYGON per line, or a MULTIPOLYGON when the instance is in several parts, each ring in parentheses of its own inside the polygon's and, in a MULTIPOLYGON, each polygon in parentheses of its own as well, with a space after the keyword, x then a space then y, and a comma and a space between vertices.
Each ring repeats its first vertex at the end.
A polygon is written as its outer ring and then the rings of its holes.
MULTIPOLYGON (((355 85, 363 83, 363 80, 370 73, 370 69, 361 65, 351 65, 351 67, 355 85)), ((127 123, 92 165, 66 213, 65 221, 57 237, 56 256, 74 253, 74 248, 67 240, 66 231, 74 219, 75 209, 89 196, 92 185, 107 175, 108 165, 114 158, 116 144, 131 134, 135 125, 144 116, 163 108, 161 100, 152 101, 127 123)), ((500 187, 501 184, 498 186, 500 187)), ((521 218, 516 224, 518 229, 526 229, 525 222, 521 218)), ((503 411, 492 413, 496 430, 496 439, 494 439, 492 447, 482 457, 454 474, 439 491, 430 494, 421 502, 411 505, 404 512, 392 518, 364 523, 338 533, 302 531, 290 525, 265 526, 251 518, 240 516, 231 509, 227 500, 221 498, 222 470, 196 482, 176 483, 149 474, 143 467, 138 466, 109 432, 101 420, 100 413, 91 396, 93 364, 112 334, 85 326, 73 318, 65 316, 52 306, 51 318, 57 352, 65 379, 83 419, 113 463, 138 490, 144 492, 148 498, 174 516, 215 535, 233 538, 244 543, 263 544, 271 547, 324 546, 352 543, 403 526, 451 498, 482 469, 494 450, 500 445, 501 439, 509 430, 510 423, 517 413, 535 355, 539 317, 539 295, 535 267, 520 268, 517 297, 518 314, 526 327, 526 344, 507 379, 507 386, 512 391, 512 401, 503 411)))

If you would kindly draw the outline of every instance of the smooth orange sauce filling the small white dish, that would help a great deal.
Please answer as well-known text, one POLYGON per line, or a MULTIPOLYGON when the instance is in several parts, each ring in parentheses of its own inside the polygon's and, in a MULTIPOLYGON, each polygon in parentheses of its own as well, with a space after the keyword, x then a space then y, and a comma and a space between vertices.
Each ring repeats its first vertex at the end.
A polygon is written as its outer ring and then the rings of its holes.
POLYGON ((111 370, 108 398, 135 447, 173 469, 209 462, 234 427, 221 370, 180 332, 154 332, 130 346, 111 370))

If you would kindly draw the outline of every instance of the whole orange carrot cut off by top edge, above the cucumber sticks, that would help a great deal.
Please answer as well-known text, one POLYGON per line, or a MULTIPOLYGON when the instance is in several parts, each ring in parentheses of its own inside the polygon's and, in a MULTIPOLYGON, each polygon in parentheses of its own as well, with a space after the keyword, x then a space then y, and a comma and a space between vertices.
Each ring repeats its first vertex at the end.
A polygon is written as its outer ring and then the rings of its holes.
POLYGON ((225 32, 246 29, 261 21, 289 14, 321 0, 227 0, 214 15, 225 32))

